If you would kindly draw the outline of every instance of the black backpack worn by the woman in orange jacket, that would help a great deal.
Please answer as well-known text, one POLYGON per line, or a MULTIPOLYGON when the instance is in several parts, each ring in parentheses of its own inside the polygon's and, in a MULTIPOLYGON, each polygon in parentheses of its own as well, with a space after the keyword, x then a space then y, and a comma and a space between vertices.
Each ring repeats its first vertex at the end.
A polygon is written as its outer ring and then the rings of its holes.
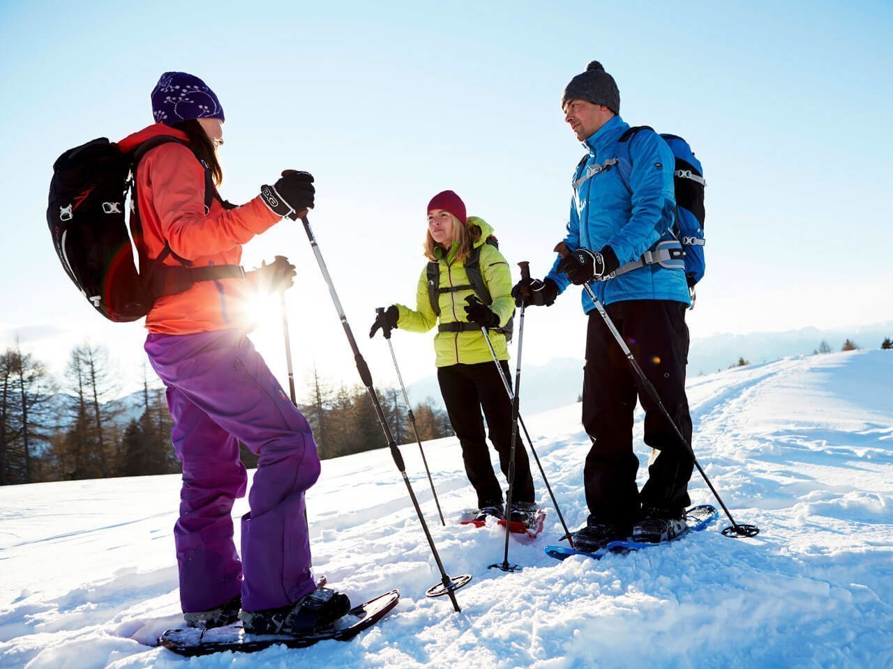
MULTIPOLYGON (((146 316, 162 295, 182 293, 196 281, 244 277, 238 265, 193 268, 165 244, 154 259, 146 257, 142 227, 136 211, 136 188, 131 194, 130 235, 127 226, 128 192, 134 186, 137 164, 151 148, 166 142, 181 142, 173 136, 153 137, 133 153, 123 153, 118 145, 100 137, 69 149, 55 161, 50 182, 46 222, 53 246, 71 281, 105 318, 115 322, 146 316), (140 271, 134 262, 138 250, 140 271), (164 267, 171 255, 180 267, 164 267)), ((205 211, 220 195, 213 185, 210 169, 205 171, 205 211)), ((221 200, 231 208, 228 202, 221 200)))

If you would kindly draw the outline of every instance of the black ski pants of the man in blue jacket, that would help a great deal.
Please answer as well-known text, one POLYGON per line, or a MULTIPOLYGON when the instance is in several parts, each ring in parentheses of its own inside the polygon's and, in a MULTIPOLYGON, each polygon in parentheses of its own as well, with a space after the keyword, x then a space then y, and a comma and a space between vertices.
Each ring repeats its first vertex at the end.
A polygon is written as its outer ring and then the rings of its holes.
MULTIPOLYGON (((614 302, 605 310, 680 432, 691 443, 691 417, 685 394, 689 356, 686 305, 667 300, 614 302)), ((583 426, 592 439, 583 481, 590 514, 600 522, 631 524, 641 508, 680 512, 689 506, 688 484, 694 460, 648 399, 638 375, 597 310, 589 312, 583 368, 583 426), (645 409, 645 443, 659 450, 638 491, 638 458, 632 425, 636 399, 645 409)))

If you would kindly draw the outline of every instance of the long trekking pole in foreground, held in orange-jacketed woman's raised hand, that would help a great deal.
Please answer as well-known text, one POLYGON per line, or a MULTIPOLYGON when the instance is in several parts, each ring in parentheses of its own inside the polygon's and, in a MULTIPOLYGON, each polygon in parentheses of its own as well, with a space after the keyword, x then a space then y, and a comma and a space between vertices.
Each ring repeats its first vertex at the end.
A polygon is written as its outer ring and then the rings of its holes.
POLYGON ((381 403, 379 401, 378 393, 375 392, 375 388, 372 386, 372 375, 369 371, 369 366, 366 364, 366 360, 363 359, 363 355, 360 353, 360 348, 356 345, 354 333, 351 331, 350 325, 347 323, 347 317, 344 313, 344 309, 341 306, 341 301, 338 300, 338 293, 335 291, 335 284, 332 283, 332 277, 329 274, 329 268, 326 267, 325 260, 322 260, 320 246, 316 243, 316 237, 313 235, 313 229, 310 227, 310 221, 307 220, 306 213, 304 216, 301 217, 301 222, 304 223, 304 229, 307 233, 307 239, 310 240, 310 246, 311 248, 313 248, 313 255, 316 256, 316 262, 320 266, 322 277, 325 279, 326 284, 329 285, 329 293, 332 298, 332 303, 335 305, 335 310, 338 311, 338 318, 340 318, 341 320, 341 325, 344 326, 344 334, 347 336, 347 342, 350 343, 350 347, 354 351, 356 370, 360 373, 360 378, 363 381, 363 385, 366 386, 366 391, 369 392, 369 397, 371 398, 372 404, 375 407, 375 413, 379 417, 379 425, 381 425, 381 430, 382 432, 384 432, 385 439, 388 441, 388 448, 390 449, 391 457, 394 458, 394 464, 396 465, 396 468, 400 470, 400 475, 403 476, 403 481, 406 484, 406 491, 409 492, 410 500, 413 500, 415 513, 417 516, 419 516, 421 529, 424 531, 425 538, 428 540, 428 545, 431 549, 431 555, 434 556, 434 561, 437 563, 438 569, 440 570, 440 583, 435 583, 434 585, 432 585, 425 592, 425 594, 428 597, 440 597, 441 595, 448 595, 450 601, 453 602, 453 608, 455 609, 456 613, 458 613, 462 609, 459 607, 459 602, 457 602, 455 599, 455 591, 470 582, 472 580, 472 575, 462 574, 461 576, 456 576, 455 579, 452 579, 447 575, 443 563, 440 561, 438 547, 434 545, 434 539, 431 537, 431 533, 428 529, 428 524, 425 523, 425 516, 421 515, 419 500, 416 500, 415 498, 413 484, 409 482, 409 477, 406 476, 406 466, 403 461, 403 455, 400 453, 400 450, 397 448, 396 443, 394 442, 394 437, 391 434, 390 428, 388 427, 388 421, 385 419, 384 411, 381 409, 381 403))

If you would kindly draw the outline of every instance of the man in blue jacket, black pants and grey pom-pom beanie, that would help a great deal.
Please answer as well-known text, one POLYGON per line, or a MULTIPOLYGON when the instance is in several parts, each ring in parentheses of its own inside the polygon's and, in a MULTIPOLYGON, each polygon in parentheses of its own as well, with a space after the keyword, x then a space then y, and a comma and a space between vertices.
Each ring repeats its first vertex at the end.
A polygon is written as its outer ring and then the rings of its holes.
MULTIPOLYGON (((545 280, 515 285, 513 295, 519 303, 523 293, 528 304, 548 306, 569 284, 589 284, 690 443, 690 302, 681 247, 672 235, 672 152, 650 128, 627 132, 620 92, 599 62, 572 78, 562 110, 587 151, 572 179, 563 240, 572 253, 556 258, 545 280)), ((585 291, 582 301, 588 315, 583 425, 592 448, 583 470, 588 522, 574 544, 595 550, 630 534, 635 541, 667 541, 685 528, 693 460, 638 388, 638 376, 585 291), (646 412, 645 442, 657 453, 641 491, 632 444, 637 395, 646 412)))

